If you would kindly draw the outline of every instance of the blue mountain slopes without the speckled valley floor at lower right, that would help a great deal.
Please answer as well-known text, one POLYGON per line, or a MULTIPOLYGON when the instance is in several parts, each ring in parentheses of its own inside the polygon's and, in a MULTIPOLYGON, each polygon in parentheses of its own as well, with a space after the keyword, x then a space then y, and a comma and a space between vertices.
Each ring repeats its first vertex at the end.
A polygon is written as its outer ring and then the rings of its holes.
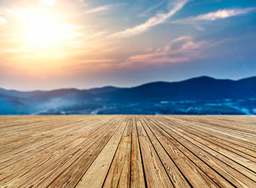
POLYGON ((147 102, 224 99, 256 99, 256 77, 222 80, 203 76, 178 82, 145 83, 130 88, 105 86, 31 92, 0 88, 0 114, 40 114, 45 111, 56 114, 60 109, 64 109, 65 113, 72 111, 75 114, 74 110, 78 110, 78 114, 90 114, 99 109, 116 108, 113 104, 120 106, 144 102, 146 106, 147 102))

